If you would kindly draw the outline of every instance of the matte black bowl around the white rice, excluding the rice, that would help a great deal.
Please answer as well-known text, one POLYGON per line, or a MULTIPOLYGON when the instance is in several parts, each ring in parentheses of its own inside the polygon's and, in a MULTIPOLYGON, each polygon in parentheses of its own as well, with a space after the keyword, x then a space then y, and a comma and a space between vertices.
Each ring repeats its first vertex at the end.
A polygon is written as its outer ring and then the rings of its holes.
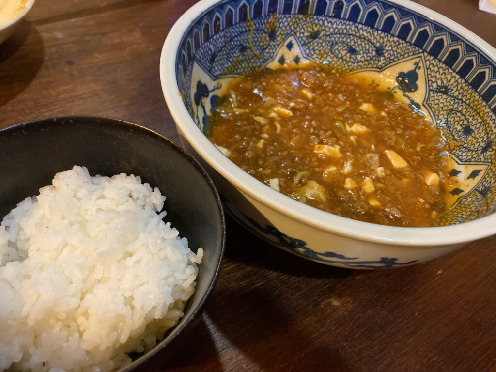
POLYGON ((52 117, 0 130, 0 218, 58 172, 86 166, 91 175, 140 176, 166 195, 164 208, 189 246, 202 247, 196 290, 185 315, 150 352, 124 371, 160 368, 177 351, 201 316, 219 273, 225 221, 219 195, 203 168, 174 142, 147 128, 118 119, 52 117))

